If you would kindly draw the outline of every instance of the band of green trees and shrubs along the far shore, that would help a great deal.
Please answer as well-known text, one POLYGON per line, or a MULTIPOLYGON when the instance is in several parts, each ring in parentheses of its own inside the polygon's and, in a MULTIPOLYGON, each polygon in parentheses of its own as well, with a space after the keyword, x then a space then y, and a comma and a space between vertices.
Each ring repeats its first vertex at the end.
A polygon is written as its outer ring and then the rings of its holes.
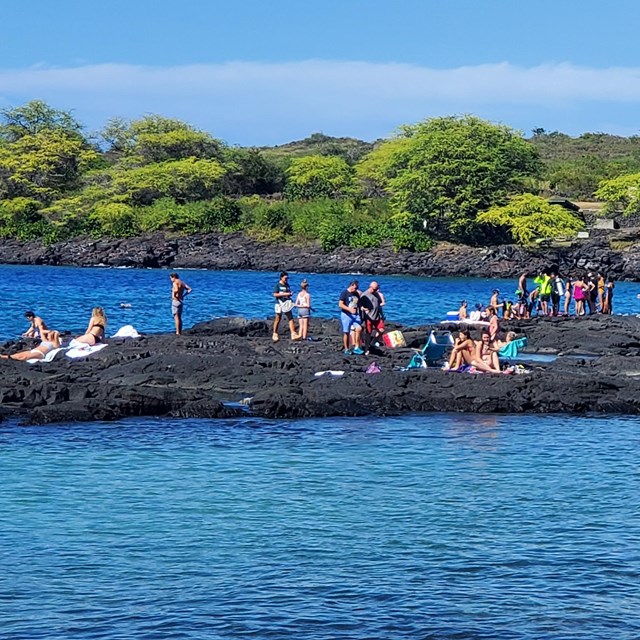
POLYGON ((538 196, 640 212, 640 140, 530 140, 474 116, 432 118, 375 144, 313 134, 229 147, 179 120, 110 120, 86 135, 41 101, 0 111, 0 236, 243 232, 268 242, 422 251, 437 240, 571 235, 582 222, 538 196))

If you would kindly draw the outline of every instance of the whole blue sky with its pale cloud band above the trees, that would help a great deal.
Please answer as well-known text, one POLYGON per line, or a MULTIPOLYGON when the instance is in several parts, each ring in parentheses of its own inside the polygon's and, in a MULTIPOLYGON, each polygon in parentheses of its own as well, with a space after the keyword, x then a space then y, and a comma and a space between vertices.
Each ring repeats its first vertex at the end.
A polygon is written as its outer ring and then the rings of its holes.
POLYGON ((259 146, 470 113, 640 135, 639 0, 27 0, 2 21, 0 109, 88 132, 159 114, 259 146))

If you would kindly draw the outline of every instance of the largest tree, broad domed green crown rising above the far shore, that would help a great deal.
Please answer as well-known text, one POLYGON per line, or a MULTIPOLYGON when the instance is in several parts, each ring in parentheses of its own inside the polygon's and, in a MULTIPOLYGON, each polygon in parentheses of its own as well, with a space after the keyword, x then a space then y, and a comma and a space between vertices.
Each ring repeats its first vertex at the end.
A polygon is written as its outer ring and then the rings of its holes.
POLYGON ((425 220, 437 238, 470 239, 478 212, 522 191, 540 169, 519 133, 474 116, 433 118, 404 127, 401 138, 374 150, 360 175, 382 184, 398 213, 425 220))

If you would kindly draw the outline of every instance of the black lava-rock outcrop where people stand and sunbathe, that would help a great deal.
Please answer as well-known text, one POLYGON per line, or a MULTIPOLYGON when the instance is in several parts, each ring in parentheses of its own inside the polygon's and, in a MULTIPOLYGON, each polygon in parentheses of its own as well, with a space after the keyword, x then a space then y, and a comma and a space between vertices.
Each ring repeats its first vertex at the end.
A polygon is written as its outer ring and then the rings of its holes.
MULTIPOLYGON (((27 423, 129 416, 266 418, 468 413, 640 413, 640 319, 541 318, 505 326, 555 354, 522 375, 402 371, 429 326, 404 327, 408 347, 345 356, 336 321, 312 319, 311 342, 273 343, 264 320, 224 318, 183 336, 109 339, 80 360, 0 361, 0 413, 27 423), (376 361, 381 372, 367 374, 376 361), (344 375, 315 376, 319 371, 344 375)), ((24 346, 6 343, 3 353, 24 346)))

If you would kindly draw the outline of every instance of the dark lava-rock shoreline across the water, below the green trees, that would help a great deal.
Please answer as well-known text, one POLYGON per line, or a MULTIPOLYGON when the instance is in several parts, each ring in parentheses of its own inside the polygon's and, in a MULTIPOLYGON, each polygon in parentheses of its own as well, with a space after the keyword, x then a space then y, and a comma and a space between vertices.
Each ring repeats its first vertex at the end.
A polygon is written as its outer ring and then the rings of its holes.
POLYGON ((524 269, 557 265, 563 273, 602 270, 616 280, 638 280, 640 243, 637 234, 627 230, 615 240, 602 236, 530 250, 514 245, 441 243, 426 253, 395 253, 385 248, 325 253, 317 245, 267 244, 241 233, 155 233, 125 239, 76 238, 51 245, 4 238, 0 239, 0 263, 502 278, 514 278, 524 269))

